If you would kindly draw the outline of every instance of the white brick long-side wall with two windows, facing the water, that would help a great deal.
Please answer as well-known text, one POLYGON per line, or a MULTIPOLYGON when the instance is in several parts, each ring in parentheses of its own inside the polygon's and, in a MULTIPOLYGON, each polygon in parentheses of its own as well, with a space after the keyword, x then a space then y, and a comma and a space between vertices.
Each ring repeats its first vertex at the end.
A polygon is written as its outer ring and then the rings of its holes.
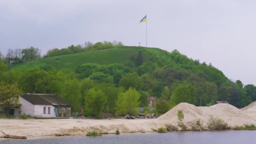
POLYGON ((56 117, 54 112, 54 107, 52 105, 35 105, 34 117, 56 117), (43 113, 44 107, 45 107, 45 114, 43 113), (51 114, 48 114, 48 107, 50 107, 51 114))

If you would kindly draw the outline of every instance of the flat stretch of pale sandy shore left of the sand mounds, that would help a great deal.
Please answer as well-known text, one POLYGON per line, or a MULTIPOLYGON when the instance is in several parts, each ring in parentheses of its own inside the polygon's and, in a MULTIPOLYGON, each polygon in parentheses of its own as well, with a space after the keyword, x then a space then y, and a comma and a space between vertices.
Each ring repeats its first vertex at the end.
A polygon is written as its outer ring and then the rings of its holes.
MULTIPOLYGON (((156 119, 138 120, 93 120, 93 119, 0 119, 0 130, 7 134, 39 137, 58 135, 85 135, 87 131, 115 133, 119 128, 121 133, 151 132, 151 128, 164 127, 164 122, 156 119)), ((0 133, 3 136, 3 133, 0 133)))

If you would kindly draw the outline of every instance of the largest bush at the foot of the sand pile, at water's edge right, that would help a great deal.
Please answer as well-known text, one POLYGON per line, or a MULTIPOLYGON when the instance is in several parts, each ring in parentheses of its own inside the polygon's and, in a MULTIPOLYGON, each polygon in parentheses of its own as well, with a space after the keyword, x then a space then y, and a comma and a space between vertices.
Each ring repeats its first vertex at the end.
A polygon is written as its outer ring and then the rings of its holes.
POLYGON ((210 116, 207 126, 210 130, 227 130, 229 129, 227 123, 224 120, 221 120, 220 118, 210 116))

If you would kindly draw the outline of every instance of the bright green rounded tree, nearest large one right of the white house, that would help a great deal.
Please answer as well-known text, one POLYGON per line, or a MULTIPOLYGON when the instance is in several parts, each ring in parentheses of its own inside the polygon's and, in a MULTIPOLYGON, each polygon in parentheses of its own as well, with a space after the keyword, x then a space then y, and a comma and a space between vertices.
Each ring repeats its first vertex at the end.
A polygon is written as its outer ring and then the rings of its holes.
POLYGON ((102 91, 89 89, 85 95, 85 115, 100 117, 106 102, 106 96, 102 91))

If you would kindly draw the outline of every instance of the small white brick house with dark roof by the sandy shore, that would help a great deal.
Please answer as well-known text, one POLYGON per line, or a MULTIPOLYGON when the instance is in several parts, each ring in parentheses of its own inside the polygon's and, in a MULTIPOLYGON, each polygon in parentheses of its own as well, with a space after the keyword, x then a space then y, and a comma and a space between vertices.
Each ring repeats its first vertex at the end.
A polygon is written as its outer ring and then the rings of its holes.
POLYGON ((19 98, 21 114, 33 117, 70 117, 71 104, 54 94, 24 93, 19 98))

